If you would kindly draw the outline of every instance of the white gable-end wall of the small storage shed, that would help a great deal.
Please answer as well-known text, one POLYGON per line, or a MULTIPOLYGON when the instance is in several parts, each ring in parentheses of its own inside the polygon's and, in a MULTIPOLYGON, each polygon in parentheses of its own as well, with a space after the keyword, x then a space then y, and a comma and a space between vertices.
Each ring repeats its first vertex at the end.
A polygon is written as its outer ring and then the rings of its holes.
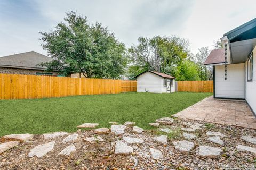
POLYGON ((150 72, 146 72, 137 78, 137 92, 162 92, 163 78, 150 72))

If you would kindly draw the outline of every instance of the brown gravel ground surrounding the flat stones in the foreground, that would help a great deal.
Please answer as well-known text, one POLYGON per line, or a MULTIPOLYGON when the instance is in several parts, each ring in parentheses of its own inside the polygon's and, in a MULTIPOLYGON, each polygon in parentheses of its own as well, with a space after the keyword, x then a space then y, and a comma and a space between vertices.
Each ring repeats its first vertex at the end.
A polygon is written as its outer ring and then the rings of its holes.
MULTIPOLYGON (((0 154, 0 169, 255 169, 256 155, 248 152, 238 152, 237 145, 255 147, 253 144, 240 139, 242 135, 256 136, 256 132, 249 128, 239 128, 236 126, 226 126, 220 124, 209 124, 200 121, 175 119, 172 125, 161 125, 160 128, 170 128, 173 133, 168 134, 168 143, 153 141, 157 135, 167 135, 158 128, 144 131, 141 134, 132 133, 132 128, 126 128, 125 134, 115 136, 113 133, 101 134, 104 142, 89 143, 85 138, 94 137, 93 130, 82 130, 78 132, 78 138, 74 142, 62 143, 65 137, 57 137, 45 140, 43 135, 35 135, 33 140, 21 143, 17 147, 0 154), (197 138, 190 140, 195 143, 195 148, 189 154, 182 154, 174 149, 173 141, 185 140, 180 128, 187 128, 184 121, 201 123, 206 128, 198 129, 195 132, 197 138), (224 146, 207 141, 207 131, 218 131, 225 134, 222 138, 224 146), (142 144, 133 144, 133 154, 115 155, 115 143, 126 137, 143 139, 142 144), (42 158, 28 158, 28 153, 35 146, 55 141, 56 144, 51 152, 42 158), (59 152, 68 145, 75 145, 76 151, 70 156, 58 155, 59 152), (206 145, 218 147, 223 150, 219 158, 199 157, 199 146, 206 145), (149 148, 160 150, 163 159, 153 160, 150 158, 149 148)), ((5 141, 1 141, 5 142, 5 141)))

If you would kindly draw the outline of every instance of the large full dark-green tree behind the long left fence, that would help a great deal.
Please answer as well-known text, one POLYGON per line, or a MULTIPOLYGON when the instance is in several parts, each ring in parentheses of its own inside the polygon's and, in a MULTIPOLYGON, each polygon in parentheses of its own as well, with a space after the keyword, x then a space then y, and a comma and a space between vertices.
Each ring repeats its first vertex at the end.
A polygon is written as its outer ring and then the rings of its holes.
POLYGON ((127 64, 125 45, 101 23, 89 24, 76 12, 51 32, 41 32, 42 47, 53 58, 41 65, 64 75, 83 73, 86 78, 119 78, 127 64))

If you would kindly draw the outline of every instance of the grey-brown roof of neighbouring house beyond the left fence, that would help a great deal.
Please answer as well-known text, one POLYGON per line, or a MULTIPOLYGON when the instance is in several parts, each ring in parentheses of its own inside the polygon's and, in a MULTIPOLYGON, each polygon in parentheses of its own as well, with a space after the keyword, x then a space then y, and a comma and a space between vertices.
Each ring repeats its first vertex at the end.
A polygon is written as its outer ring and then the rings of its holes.
POLYGON ((50 57, 31 51, 0 57, 0 67, 45 70, 46 67, 38 66, 37 64, 51 60, 52 58, 50 57))

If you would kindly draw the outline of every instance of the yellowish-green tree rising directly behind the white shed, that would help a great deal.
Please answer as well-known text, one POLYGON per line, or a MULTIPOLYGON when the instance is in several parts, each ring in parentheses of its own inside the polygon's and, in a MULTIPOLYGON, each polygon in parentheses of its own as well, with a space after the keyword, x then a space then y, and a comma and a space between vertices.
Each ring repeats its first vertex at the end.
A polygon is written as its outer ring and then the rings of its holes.
POLYGON ((187 48, 188 40, 178 36, 139 37, 138 45, 129 48, 131 65, 128 74, 132 78, 144 70, 152 70, 175 76, 175 68, 188 55, 187 48))

